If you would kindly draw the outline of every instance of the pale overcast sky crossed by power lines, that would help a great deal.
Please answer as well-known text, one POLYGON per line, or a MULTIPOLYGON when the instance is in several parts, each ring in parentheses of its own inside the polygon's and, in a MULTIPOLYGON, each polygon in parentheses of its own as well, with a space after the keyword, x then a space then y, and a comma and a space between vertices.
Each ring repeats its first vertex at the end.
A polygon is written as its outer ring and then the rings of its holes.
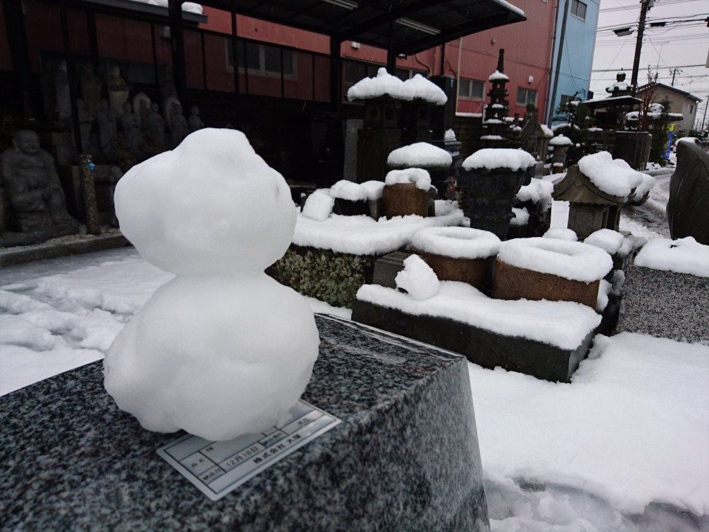
MULTIPOLYGON (((676 69, 674 86, 703 99, 698 116, 703 116, 709 96, 709 69, 704 66, 709 53, 709 28, 704 21, 708 16, 708 0, 655 0, 647 13, 637 77, 639 84, 647 83, 650 66, 653 72, 657 69, 658 81, 672 84, 676 69), (693 19, 700 21, 688 22, 693 19), (651 28, 651 22, 666 22, 666 26, 651 28)), ((639 20, 640 0, 601 0, 591 73, 594 98, 605 96, 605 87, 615 81, 621 68, 630 82, 639 20), (632 28, 633 33, 625 37, 613 33, 623 27, 632 28)))

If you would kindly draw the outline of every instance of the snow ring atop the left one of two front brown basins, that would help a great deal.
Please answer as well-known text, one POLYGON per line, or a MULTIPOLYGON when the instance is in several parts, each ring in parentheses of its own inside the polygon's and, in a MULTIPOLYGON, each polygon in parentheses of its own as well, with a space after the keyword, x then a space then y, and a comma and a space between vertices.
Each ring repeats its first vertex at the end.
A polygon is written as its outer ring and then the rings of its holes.
POLYGON ((462 259, 494 257, 500 250, 495 233, 469 227, 431 227, 417 231, 414 248, 433 255, 462 259))

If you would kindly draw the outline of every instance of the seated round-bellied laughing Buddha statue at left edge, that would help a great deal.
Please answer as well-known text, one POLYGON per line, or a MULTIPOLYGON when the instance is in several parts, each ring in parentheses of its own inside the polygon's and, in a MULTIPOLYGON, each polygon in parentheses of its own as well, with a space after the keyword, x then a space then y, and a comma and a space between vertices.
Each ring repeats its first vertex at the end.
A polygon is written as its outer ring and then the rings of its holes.
POLYGON ((34 131, 15 134, 13 148, 0 155, 2 184, 11 211, 11 229, 45 233, 46 238, 76 233, 79 225, 69 216, 54 159, 40 148, 34 131))

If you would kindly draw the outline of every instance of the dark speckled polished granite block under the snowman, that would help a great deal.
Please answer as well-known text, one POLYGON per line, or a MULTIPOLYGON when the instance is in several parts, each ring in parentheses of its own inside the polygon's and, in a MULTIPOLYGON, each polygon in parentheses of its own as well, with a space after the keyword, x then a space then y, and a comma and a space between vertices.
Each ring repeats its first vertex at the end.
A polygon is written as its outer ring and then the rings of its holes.
POLYGON ((4 530, 489 531, 465 359, 316 316, 303 399, 342 419, 220 501, 104 391, 101 362, 0 399, 4 530))

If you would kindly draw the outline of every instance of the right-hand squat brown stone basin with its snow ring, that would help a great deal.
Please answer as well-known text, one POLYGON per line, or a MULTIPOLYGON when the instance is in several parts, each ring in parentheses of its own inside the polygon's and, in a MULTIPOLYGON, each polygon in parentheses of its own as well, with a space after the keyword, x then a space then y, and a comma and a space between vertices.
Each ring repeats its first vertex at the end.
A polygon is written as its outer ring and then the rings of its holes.
POLYGON ((557 238, 503 243, 493 279, 495 299, 576 301, 596 309, 601 279, 613 260, 601 248, 557 238))

